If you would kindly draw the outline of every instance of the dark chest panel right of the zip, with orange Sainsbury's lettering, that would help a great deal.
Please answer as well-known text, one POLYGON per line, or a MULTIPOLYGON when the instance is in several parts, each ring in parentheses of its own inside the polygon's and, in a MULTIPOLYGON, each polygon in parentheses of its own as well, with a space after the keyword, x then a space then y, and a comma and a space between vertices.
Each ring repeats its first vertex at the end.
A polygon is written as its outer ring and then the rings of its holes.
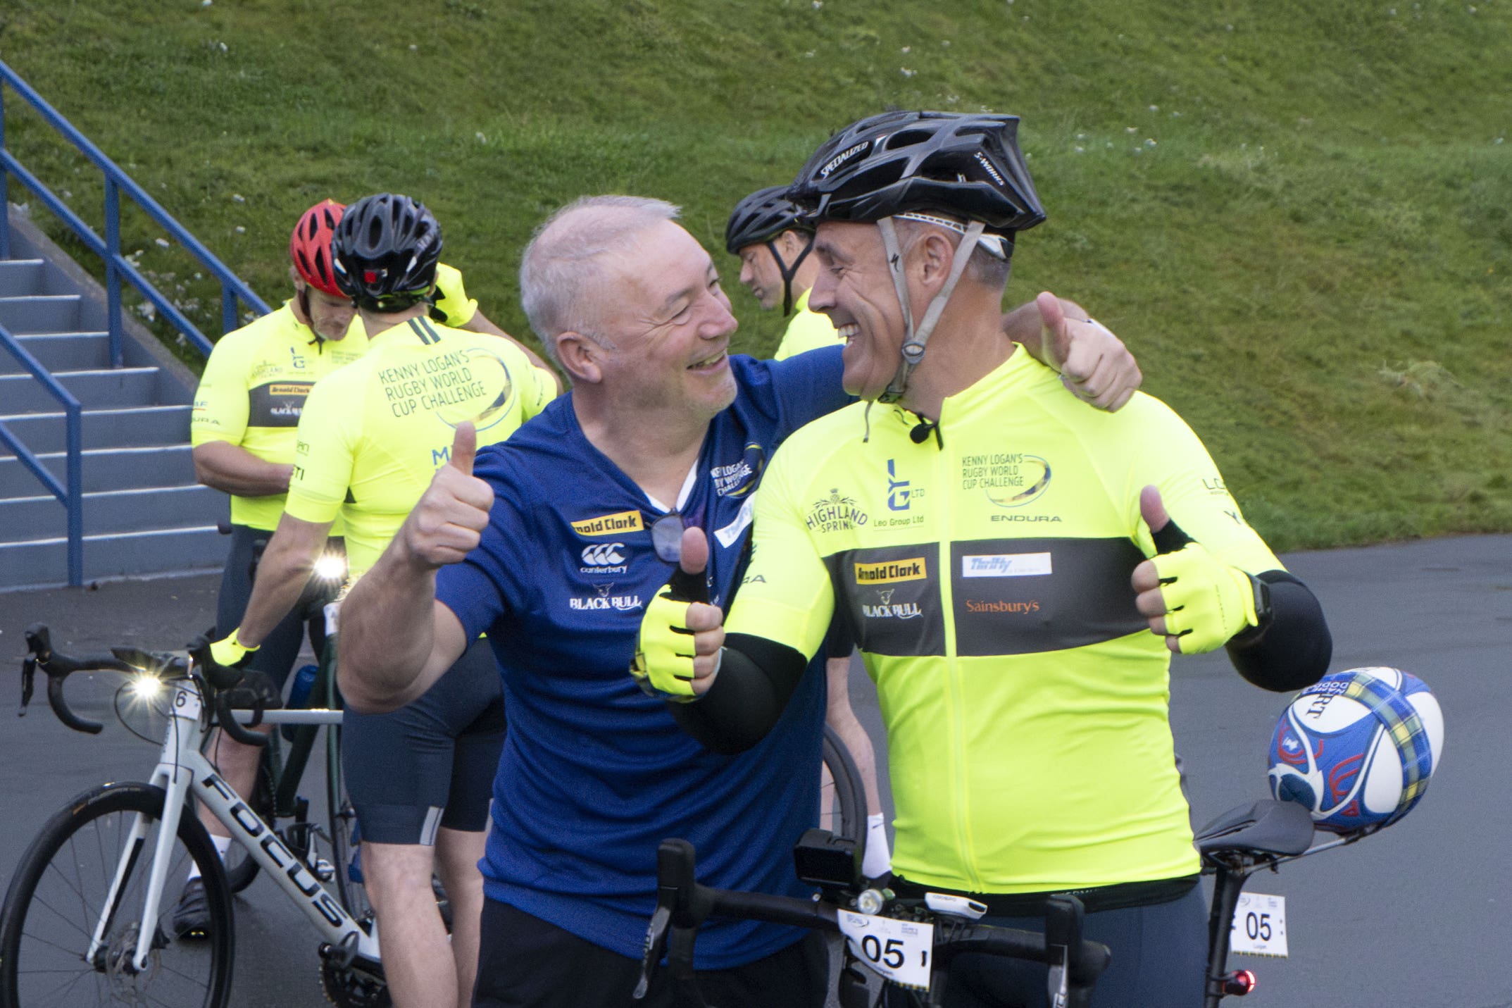
POLYGON ((1034 654, 1113 641, 1149 624, 1125 538, 951 543, 956 653, 1034 654))

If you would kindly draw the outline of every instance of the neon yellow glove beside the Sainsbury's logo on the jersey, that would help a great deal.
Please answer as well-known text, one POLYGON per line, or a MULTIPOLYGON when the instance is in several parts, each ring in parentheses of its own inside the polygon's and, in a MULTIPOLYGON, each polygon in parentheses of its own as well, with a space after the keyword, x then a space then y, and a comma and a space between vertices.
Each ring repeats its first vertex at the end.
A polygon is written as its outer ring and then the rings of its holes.
POLYGON ((1166 600, 1166 633, 1182 654, 1216 651, 1246 627, 1259 626, 1253 577, 1219 561, 1201 543, 1151 558, 1166 600))

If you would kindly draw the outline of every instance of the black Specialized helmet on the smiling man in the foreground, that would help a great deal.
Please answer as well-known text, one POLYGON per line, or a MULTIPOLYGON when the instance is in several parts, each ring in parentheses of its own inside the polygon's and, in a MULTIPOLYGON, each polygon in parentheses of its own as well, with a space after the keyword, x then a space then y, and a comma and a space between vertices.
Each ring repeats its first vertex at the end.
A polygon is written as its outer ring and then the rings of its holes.
POLYGON ((788 198, 812 221, 880 221, 934 210, 990 231, 1040 224, 1016 115, 885 112, 832 136, 798 172, 788 198))

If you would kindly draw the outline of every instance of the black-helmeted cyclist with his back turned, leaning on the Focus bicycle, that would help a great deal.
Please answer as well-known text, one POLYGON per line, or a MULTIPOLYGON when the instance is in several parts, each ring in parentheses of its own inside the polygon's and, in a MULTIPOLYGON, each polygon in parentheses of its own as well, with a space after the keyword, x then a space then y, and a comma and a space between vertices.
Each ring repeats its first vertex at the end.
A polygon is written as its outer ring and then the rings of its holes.
MULTIPOLYGON (((333 524, 346 527, 360 580, 454 446, 500 441, 558 391, 513 340, 432 323, 440 225, 392 193, 352 204, 333 240, 342 292, 355 299, 369 351, 324 378, 299 419, 293 478, 240 626, 215 659, 256 657, 295 604, 333 524)), ((401 710, 342 721, 342 769, 363 834, 363 881, 396 1005, 466 1005, 478 963, 484 827, 503 744, 499 671, 475 641, 451 674, 401 710), (452 904, 451 948, 431 889, 452 904)), ((346 866, 337 866, 345 870, 346 866)))

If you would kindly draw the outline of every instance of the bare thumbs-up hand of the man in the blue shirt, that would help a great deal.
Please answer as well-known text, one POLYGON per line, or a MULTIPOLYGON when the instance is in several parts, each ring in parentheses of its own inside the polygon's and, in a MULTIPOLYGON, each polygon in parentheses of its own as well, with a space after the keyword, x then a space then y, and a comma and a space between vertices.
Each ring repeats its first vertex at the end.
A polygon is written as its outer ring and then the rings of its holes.
POLYGON ((395 541, 417 567, 434 570, 467 556, 488 526, 493 488, 472 475, 478 455, 478 431, 472 423, 457 425, 446 464, 435 470, 431 485, 395 541))

